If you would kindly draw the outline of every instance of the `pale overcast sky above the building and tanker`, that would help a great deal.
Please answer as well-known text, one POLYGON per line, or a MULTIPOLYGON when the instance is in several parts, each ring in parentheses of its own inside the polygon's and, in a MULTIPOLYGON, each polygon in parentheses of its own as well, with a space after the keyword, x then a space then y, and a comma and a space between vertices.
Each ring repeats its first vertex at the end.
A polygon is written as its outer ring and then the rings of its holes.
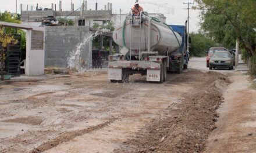
MULTIPOLYGON (((74 3, 74 9, 78 9, 83 3, 83 0, 62 0, 62 10, 70 10, 71 1, 74 3)), ((122 10, 122 14, 129 13, 131 6, 134 5, 135 0, 87 0, 88 9, 95 9, 95 2, 98 1, 98 9, 104 9, 104 5, 108 2, 112 3, 112 12, 119 13, 119 9, 122 10)), ((140 6, 144 8, 144 11, 148 13, 162 13, 166 16, 167 24, 179 24, 184 25, 187 20, 187 5, 183 3, 193 3, 193 0, 138 0, 140 6)), ((59 9, 59 0, 17 0, 17 12, 20 13, 20 4, 23 4, 23 10, 27 5, 33 6, 35 9, 37 3, 39 7, 51 8, 51 3, 56 3, 57 10, 59 9)), ((196 4, 191 5, 196 6, 196 4)), ((0 0, 0 12, 8 10, 9 12, 16 12, 16 0, 0 0)), ((197 32, 200 28, 199 23, 199 11, 190 10, 190 32, 197 32)))

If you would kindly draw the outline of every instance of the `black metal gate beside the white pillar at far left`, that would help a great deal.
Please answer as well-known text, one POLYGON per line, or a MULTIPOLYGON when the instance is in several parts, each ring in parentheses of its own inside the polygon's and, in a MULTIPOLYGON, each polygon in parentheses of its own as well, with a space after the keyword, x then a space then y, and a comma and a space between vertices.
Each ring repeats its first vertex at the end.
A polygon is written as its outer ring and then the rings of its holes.
MULTIPOLYGON (((21 56, 21 36, 13 35, 13 37, 18 41, 16 44, 9 43, 6 48, 3 48, 5 53, 5 66, 4 74, 11 75, 12 77, 20 77, 20 56, 21 56)), ((2 48, 0 44, 0 48, 2 48)), ((0 59, 1 61, 1 59, 0 59)), ((1 73, 1 70, 0 70, 1 73)))

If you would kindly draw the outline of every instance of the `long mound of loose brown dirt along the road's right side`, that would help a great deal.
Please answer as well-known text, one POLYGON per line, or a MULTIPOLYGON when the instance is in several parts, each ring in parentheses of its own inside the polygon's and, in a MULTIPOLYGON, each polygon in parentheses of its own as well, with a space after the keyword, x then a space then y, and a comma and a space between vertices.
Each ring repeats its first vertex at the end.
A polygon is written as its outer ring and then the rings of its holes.
POLYGON ((181 103, 169 107, 169 114, 154 119, 115 152, 204 151, 208 134, 216 129, 222 89, 230 83, 225 75, 216 72, 207 72, 204 78, 206 81, 184 96, 181 103))

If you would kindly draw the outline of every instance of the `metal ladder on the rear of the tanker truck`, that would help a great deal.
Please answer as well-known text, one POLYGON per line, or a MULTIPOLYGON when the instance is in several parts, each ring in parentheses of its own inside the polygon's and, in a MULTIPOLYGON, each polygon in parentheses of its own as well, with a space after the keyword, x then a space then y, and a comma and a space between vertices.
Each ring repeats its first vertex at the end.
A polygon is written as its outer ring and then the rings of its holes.
POLYGON ((138 56, 138 59, 140 60, 140 52, 141 52, 141 13, 140 13, 140 21, 137 23, 137 21, 133 21, 133 15, 131 15, 131 30, 130 30, 130 60, 131 56, 138 56), (137 37, 137 35, 133 35, 134 33, 137 33, 136 28, 140 27, 140 36, 137 37), (136 31, 136 32, 134 32, 136 31))

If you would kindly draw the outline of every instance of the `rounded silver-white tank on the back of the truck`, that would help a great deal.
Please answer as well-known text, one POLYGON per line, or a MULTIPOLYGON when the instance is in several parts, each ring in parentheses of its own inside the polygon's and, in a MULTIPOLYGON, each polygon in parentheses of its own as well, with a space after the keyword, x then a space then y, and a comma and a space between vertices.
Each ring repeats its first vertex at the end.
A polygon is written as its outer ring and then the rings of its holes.
POLYGON ((177 32, 154 17, 150 19, 144 16, 134 19, 128 15, 123 25, 113 31, 113 41, 129 50, 140 48, 142 52, 148 51, 148 39, 150 39, 150 51, 158 52, 163 56, 175 52, 182 44, 182 37, 177 32), (132 22, 131 19, 133 19, 132 22), (149 21, 151 23, 150 38, 148 38, 149 21))

